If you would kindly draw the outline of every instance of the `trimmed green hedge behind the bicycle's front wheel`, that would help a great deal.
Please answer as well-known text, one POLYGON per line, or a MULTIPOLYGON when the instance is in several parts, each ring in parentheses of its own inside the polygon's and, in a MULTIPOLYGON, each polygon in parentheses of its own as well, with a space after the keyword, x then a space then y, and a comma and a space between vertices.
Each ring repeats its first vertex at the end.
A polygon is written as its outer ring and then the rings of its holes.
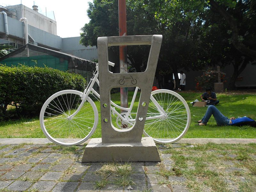
POLYGON ((83 91, 84 77, 52 68, 0 64, 0 120, 6 116, 7 105, 16 107, 19 116, 35 116, 54 93, 74 89, 83 91))

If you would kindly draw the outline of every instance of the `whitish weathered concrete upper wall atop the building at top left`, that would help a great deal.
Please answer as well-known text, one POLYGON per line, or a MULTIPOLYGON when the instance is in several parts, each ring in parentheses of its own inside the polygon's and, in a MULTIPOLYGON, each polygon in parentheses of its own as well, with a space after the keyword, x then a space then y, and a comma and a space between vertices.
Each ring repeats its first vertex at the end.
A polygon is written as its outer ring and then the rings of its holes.
POLYGON ((6 8, 16 9, 17 20, 20 20, 22 17, 26 17, 28 19, 28 25, 39 28, 53 35, 57 35, 57 23, 55 20, 52 20, 22 4, 7 6, 6 8))

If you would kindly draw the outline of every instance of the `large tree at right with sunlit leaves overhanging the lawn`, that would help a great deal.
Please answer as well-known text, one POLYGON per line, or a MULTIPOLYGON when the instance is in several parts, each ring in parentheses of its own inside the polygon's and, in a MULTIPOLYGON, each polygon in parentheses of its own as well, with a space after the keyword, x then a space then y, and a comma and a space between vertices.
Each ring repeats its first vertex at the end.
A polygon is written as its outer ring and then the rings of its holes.
MULTIPOLYGON (((253 0, 139 0, 135 4, 155 13, 156 20, 170 28, 177 21, 190 20, 193 24, 202 20, 202 24, 197 25, 204 30, 200 39, 204 42, 201 46, 205 58, 201 59, 205 64, 233 65, 229 89, 234 89, 236 77, 246 65, 255 62, 256 3, 253 0)), ((188 33, 195 27, 188 26, 188 33)))

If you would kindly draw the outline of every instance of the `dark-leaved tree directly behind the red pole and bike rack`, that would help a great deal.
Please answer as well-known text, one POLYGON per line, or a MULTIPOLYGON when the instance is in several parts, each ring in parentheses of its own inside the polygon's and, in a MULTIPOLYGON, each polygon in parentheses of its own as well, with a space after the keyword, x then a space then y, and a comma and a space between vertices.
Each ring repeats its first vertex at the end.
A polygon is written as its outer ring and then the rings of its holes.
MULTIPOLYGON (((178 68, 191 68, 198 66, 197 57, 193 50, 199 46, 196 43, 197 31, 193 29, 194 36, 191 36, 192 28, 188 32, 191 21, 177 20, 174 27, 170 30, 169 26, 155 19, 155 14, 146 10, 136 1, 129 1, 127 4, 127 35, 153 35, 163 34, 163 43, 160 51, 157 70, 168 74, 174 71, 175 79, 178 81, 178 68), (184 49, 187 47, 189 49, 184 49), (186 51, 184 51, 186 50, 186 51), (191 54, 193 53, 193 54, 191 54), (196 65, 191 64, 196 63, 196 65), (196 60, 194 62, 194 60, 196 60)), ((118 35, 118 4, 114 0, 99 1, 94 0, 89 4, 87 11, 91 19, 85 24, 81 33, 81 44, 97 45, 98 36, 117 36, 118 35), (108 17, 106 17, 108 15, 108 17)), ((196 21, 194 22, 201 22, 196 21)), ((114 52, 118 50, 113 49, 114 52)), ((147 64, 149 47, 128 46, 128 60, 137 72, 143 71, 147 64)))

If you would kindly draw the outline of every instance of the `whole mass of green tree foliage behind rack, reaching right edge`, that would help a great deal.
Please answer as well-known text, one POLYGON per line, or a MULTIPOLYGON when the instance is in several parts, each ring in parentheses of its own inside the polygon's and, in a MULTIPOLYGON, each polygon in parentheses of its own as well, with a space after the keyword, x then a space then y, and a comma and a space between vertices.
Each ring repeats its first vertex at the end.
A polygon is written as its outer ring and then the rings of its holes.
MULTIPOLYGON (((81 43, 97 45, 98 36, 118 36, 118 1, 94 0, 82 28, 81 43)), ((205 66, 234 67, 229 88, 248 63, 256 59, 256 2, 253 0, 127 0, 127 34, 162 34, 157 70, 197 70, 205 66)), ((115 51, 115 50, 114 50, 115 51)), ((116 52, 118 50, 116 49, 116 52)), ((148 50, 132 48, 128 59, 145 68, 148 50)), ((139 67, 138 67, 139 66, 139 67)))

